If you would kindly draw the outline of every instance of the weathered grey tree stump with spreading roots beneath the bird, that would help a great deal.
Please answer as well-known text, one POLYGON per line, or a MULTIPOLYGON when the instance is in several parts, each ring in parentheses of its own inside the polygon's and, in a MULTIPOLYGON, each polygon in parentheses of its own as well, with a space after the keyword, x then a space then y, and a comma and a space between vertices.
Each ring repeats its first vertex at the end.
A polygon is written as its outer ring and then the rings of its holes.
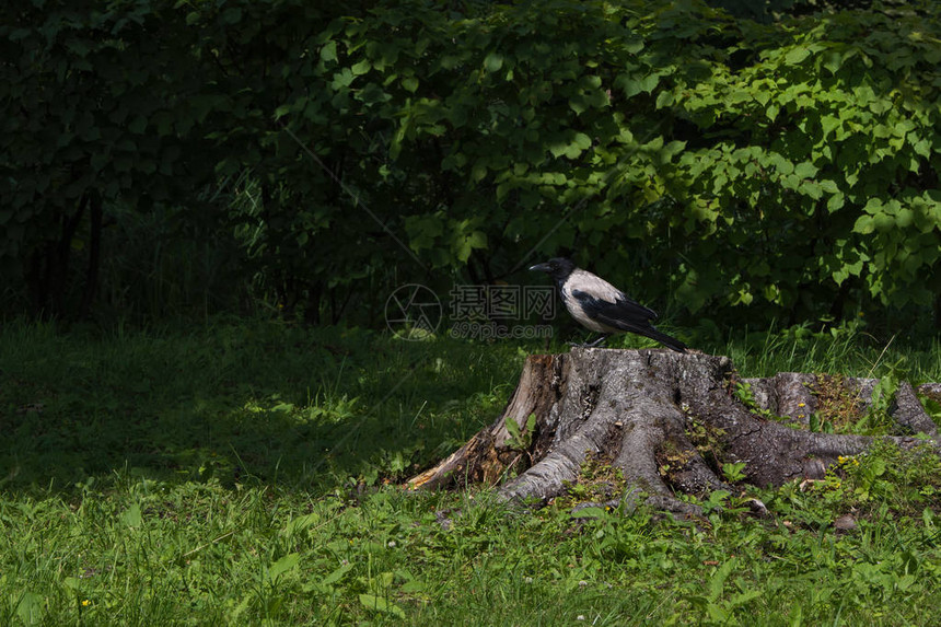
MULTIPOLYGON (((876 383, 801 373, 742 380, 727 357, 663 349, 531 356, 503 415, 409 485, 502 483, 507 499, 545 503, 594 456, 623 471, 628 488, 618 500, 643 495, 660 509, 695 513, 677 492, 731 491, 724 463, 744 463, 747 483, 780 486, 822 478, 839 456, 864 452, 873 438, 808 426, 814 411, 847 423, 864 416, 876 383), (739 383, 748 384, 747 405, 739 383)), ((885 439, 913 448, 923 443, 914 436, 925 433, 937 448, 938 429, 911 385, 898 386, 888 415, 893 434, 885 439)))

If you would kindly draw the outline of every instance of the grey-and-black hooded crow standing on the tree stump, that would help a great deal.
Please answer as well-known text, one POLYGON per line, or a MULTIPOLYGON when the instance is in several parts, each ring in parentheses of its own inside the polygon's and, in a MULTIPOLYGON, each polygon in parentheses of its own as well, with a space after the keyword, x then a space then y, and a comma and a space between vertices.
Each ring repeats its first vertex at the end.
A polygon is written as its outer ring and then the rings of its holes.
POLYGON ((557 257, 530 269, 546 272, 553 278, 566 309, 579 324, 604 334, 593 342, 582 346, 597 346, 613 333, 629 332, 655 339, 673 350, 686 352, 685 344, 660 333, 650 324, 650 321, 657 318, 653 310, 630 299, 601 277, 577 268, 569 259, 557 257))

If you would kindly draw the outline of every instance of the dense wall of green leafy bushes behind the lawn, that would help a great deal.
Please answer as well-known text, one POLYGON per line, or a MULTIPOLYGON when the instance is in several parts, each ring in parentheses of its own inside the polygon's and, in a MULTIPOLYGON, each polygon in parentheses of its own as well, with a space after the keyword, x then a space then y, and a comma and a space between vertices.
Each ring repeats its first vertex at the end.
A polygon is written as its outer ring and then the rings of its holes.
POLYGON ((313 318, 558 253, 699 315, 941 289, 937 2, 35 4, 0 25, 0 257, 54 313, 153 205, 313 318))

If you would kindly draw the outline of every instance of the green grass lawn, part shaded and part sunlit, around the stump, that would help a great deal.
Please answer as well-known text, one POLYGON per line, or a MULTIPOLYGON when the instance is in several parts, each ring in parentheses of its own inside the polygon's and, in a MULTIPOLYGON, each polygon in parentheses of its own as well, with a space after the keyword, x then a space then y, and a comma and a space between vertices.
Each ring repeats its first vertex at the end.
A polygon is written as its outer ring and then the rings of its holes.
MULTIPOLYGON (((937 340, 694 344, 744 376, 941 380, 937 340)), ((499 415, 541 348, 241 320, 5 325, 0 624, 933 623, 934 455, 880 448, 805 491, 748 489, 770 520, 716 494, 698 525, 403 490, 499 415)))

